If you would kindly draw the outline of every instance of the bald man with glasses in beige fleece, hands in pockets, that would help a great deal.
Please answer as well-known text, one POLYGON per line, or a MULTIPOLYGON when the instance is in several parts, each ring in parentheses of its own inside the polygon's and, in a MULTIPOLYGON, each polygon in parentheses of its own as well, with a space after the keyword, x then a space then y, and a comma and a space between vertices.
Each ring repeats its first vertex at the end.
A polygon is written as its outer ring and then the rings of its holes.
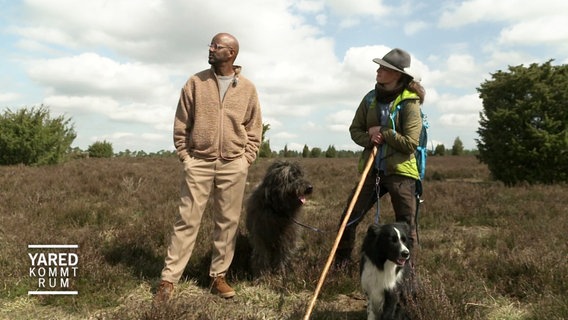
POLYGON ((209 45, 210 69, 181 90, 174 145, 183 163, 179 217, 168 247, 155 302, 167 301, 189 261, 207 201, 213 203, 211 293, 231 298, 225 275, 233 260, 250 164, 261 143, 262 119, 256 88, 234 65, 237 39, 219 33, 209 45))

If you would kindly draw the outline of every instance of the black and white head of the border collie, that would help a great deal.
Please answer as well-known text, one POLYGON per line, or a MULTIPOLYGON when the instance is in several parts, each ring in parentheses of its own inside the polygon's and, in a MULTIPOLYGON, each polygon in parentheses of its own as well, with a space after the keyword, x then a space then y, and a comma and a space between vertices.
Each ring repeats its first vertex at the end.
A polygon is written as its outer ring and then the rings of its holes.
POLYGON ((410 258, 408 233, 406 223, 371 225, 363 242, 363 253, 379 270, 389 261, 403 267, 410 258))

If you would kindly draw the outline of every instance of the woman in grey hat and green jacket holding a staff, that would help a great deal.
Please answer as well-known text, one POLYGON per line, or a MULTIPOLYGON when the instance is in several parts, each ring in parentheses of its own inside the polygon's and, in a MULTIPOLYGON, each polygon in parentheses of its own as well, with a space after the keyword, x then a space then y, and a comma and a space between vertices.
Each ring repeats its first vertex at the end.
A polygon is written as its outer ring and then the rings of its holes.
MULTIPOLYGON (((393 49, 382 59, 373 59, 373 62, 379 64, 375 89, 359 104, 349 132, 351 139, 364 148, 359 161, 360 173, 375 146, 378 152, 375 165, 365 178, 339 243, 336 266, 351 263, 357 225, 386 193, 391 196, 396 221, 410 225, 410 243, 416 239, 414 193, 419 176, 414 152, 422 129, 420 105, 425 92, 406 71, 410 67, 410 55, 406 51, 393 49)), ((349 196, 347 205, 351 203, 354 193, 355 190, 349 196)), ((347 206, 341 221, 346 210, 347 206)), ((414 257, 411 257, 411 263, 414 264, 414 257)))

